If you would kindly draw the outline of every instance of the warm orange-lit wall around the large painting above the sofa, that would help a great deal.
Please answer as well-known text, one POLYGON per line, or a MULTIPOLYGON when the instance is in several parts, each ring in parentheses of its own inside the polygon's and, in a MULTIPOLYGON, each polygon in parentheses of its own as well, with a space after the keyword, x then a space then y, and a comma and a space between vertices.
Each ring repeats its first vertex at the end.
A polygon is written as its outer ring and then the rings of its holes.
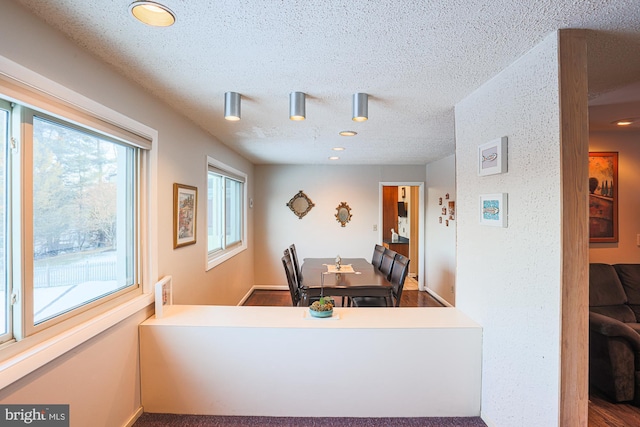
POLYGON ((589 151, 618 152, 618 242, 590 243, 589 262, 640 263, 640 132, 591 132, 589 151))

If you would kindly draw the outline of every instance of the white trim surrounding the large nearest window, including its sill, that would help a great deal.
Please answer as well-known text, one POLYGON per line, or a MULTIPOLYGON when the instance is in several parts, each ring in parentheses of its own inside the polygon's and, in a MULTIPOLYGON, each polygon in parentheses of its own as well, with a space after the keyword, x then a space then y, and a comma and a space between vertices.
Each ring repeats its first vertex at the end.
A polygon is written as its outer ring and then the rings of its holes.
MULTIPOLYGON (((141 150, 140 154, 139 241, 137 244, 139 245, 139 283, 142 292, 124 300, 113 299, 103 304, 99 313, 89 310, 76 316, 73 322, 62 322, 21 341, 8 342, 0 346, 0 389, 2 389, 153 303, 153 282, 158 278, 158 221, 157 215, 153 214, 158 211, 158 196, 155 191, 158 169, 158 132, 2 56, 0 56, 0 79, 5 82, 7 80, 15 82, 18 88, 17 92, 13 91, 13 94, 3 90, 4 98, 10 100, 13 98, 17 102, 35 107, 36 105, 29 102, 30 99, 21 99, 19 95, 20 87, 29 88, 42 94, 43 98, 57 99, 67 107, 77 108, 75 111, 80 112, 80 116, 86 114, 140 135, 144 140, 150 141, 151 147, 149 150, 141 150), (16 93, 18 96, 15 95, 16 93)), ((25 97, 29 98, 29 95, 25 97)), ((68 118, 65 117, 65 119, 68 118)))

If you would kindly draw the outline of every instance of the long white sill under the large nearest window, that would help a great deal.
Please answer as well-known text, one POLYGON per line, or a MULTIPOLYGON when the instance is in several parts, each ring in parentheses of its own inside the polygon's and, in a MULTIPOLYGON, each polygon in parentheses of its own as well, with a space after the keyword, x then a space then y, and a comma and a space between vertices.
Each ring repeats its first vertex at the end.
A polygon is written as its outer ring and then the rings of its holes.
POLYGON ((140 295, 0 362, 0 390, 153 304, 153 301, 153 294, 140 295))

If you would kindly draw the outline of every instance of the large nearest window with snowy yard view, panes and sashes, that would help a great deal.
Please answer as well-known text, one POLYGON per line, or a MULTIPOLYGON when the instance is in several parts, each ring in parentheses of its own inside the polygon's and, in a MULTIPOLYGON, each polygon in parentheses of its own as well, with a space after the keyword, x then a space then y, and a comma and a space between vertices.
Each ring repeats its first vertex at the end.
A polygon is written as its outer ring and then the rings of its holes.
POLYGON ((141 149, 0 100, 0 335, 137 295, 141 149))

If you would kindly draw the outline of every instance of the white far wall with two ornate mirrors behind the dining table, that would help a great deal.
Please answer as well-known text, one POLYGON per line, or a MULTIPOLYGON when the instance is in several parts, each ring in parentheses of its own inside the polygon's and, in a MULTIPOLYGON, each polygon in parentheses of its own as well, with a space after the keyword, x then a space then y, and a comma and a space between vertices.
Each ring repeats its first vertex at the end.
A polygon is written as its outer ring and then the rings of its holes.
MULTIPOLYGON (((371 259, 380 243, 380 182, 424 182, 424 166, 256 166, 254 198, 255 283, 286 285, 282 252, 295 243, 298 258, 371 259), (298 191, 315 207, 298 219, 286 206, 298 191), (336 207, 353 215, 345 227, 336 207), (373 230, 373 226, 378 231, 373 230)), ((414 262, 414 261, 412 261, 414 262)))

